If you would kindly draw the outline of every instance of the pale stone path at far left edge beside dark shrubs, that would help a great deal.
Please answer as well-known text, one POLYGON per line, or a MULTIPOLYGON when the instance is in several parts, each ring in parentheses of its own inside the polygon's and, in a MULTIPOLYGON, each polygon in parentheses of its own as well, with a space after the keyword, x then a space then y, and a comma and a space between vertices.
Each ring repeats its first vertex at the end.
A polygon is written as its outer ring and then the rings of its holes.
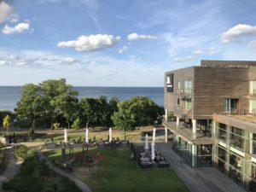
MULTIPOLYGON (((0 175, 0 185, 2 185, 3 182, 9 181, 10 178, 14 177, 15 174, 18 172, 22 160, 17 160, 15 157, 14 150, 12 148, 6 148, 5 149, 5 164, 6 167, 3 171, 3 174, 0 175)), ((2 187, 0 186, 2 189, 2 187)))

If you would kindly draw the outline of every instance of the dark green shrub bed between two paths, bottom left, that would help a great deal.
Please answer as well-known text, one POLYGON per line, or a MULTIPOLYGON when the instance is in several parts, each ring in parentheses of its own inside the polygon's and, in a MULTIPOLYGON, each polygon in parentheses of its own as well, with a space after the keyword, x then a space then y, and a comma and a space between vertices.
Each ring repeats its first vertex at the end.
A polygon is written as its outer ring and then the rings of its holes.
MULTIPOLYGON (((23 147, 21 147, 23 148, 23 147)), ((7 183, 3 189, 14 192, 81 192, 65 177, 55 176, 36 154, 26 158, 20 166, 20 172, 7 183)))

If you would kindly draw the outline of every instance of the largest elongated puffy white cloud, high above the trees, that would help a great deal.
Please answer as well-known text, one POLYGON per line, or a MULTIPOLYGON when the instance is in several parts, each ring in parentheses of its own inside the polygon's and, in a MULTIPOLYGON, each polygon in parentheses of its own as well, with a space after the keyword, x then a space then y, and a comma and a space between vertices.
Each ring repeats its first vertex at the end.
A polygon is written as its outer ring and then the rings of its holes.
POLYGON ((57 44, 58 47, 74 47, 78 51, 98 50, 108 47, 113 47, 114 44, 119 42, 120 37, 113 35, 90 35, 80 36, 77 40, 62 41, 57 44))

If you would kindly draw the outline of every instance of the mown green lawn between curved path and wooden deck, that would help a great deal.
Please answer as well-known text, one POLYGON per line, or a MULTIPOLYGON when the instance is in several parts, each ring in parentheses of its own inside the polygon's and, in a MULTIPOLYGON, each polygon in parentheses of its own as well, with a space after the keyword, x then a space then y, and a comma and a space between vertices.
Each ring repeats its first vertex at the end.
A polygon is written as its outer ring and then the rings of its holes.
MULTIPOLYGON (((81 152, 75 149, 74 155, 81 152)), ((130 160, 131 150, 128 148, 91 148, 90 154, 101 154, 105 160, 100 161, 94 171, 80 161, 73 163, 72 174, 81 178, 94 192, 172 192, 189 191, 172 169, 140 170, 137 162, 130 160)), ((49 159, 61 159, 61 150, 44 152, 49 159)))

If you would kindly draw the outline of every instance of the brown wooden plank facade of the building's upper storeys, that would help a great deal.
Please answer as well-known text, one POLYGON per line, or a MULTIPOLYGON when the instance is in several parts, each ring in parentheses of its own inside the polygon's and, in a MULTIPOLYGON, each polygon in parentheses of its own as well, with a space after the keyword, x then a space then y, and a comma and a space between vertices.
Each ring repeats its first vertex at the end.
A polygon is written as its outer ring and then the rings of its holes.
POLYGON ((249 108, 249 81, 256 79, 256 61, 201 61, 199 67, 187 67, 165 73, 164 106, 175 116, 212 119, 224 112, 225 99, 238 99, 239 113, 249 108), (166 91, 166 76, 173 74, 173 92, 166 91), (192 80, 192 92, 183 93, 184 81, 192 80), (180 82, 180 90, 177 82, 180 82), (184 98, 191 98, 191 109, 184 110, 184 98), (179 100, 179 106, 178 105, 179 100))

